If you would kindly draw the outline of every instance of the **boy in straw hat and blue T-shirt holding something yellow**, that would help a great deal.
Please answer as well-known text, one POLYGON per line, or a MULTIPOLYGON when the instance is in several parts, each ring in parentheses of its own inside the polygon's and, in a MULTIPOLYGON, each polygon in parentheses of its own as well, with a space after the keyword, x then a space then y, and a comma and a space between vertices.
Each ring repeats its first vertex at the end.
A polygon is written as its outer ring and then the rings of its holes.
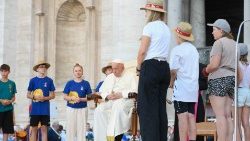
POLYGON ((50 64, 45 61, 38 62, 33 70, 37 76, 29 82, 27 98, 32 100, 30 112, 31 141, 37 140, 38 124, 41 124, 42 141, 48 141, 47 130, 50 125, 49 100, 55 98, 53 80, 47 76, 50 64))

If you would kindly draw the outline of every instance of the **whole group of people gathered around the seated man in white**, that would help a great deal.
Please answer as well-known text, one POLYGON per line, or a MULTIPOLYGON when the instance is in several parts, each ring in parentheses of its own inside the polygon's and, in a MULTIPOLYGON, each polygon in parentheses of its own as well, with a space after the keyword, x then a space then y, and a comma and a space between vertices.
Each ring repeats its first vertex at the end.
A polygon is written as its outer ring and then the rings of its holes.
MULTIPOLYGON (((235 128, 237 141, 242 140, 242 132, 245 140, 250 140, 248 47, 240 44, 239 58, 236 58, 236 42, 227 20, 218 19, 207 24, 213 28, 215 42, 209 64, 204 65, 199 63, 199 53, 192 44, 195 37, 190 23, 180 22, 174 29, 169 29, 164 22, 166 11, 162 0, 149 0, 141 10, 145 10, 146 25, 140 38, 136 73, 127 71, 123 60, 114 59, 102 69, 106 78, 97 85, 96 92, 92 92, 89 82, 83 79, 83 67, 75 64, 73 78, 63 90, 67 102, 66 131, 58 123, 50 127, 49 101, 55 98, 54 82, 47 76, 50 64, 41 61, 33 67, 37 76, 30 79, 27 89, 27 98, 31 100, 30 141, 64 140, 62 137, 65 136, 67 141, 130 140, 128 131, 134 98, 137 99, 140 122, 136 140, 167 141, 172 138, 168 133, 174 132, 176 141, 196 141, 197 115, 204 119, 204 112, 197 111, 197 103, 203 105, 200 91, 205 89, 216 116, 218 140, 232 141, 235 128), (170 52, 171 36, 175 37, 176 46, 170 52), (238 68, 235 67, 237 62, 238 68), (234 98, 236 70, 238 99, 234 98), (169 88, 173 90, 176 114, 174 129, 168 127, 166 93, 169 88), (87 123, 88 100, 99 103, 94 111, 93 131, 87 123), (235 100, 239 101, 236 105, 238 115, 234 115, 237 127, 233 126, 232 117, 235 100)), ((17 90, 15 82, 8 79, 9 65, 1 65, 0 71, 0 128, 3 141, 7 141, 8 134, 14 133, 12 103, 17 90)))

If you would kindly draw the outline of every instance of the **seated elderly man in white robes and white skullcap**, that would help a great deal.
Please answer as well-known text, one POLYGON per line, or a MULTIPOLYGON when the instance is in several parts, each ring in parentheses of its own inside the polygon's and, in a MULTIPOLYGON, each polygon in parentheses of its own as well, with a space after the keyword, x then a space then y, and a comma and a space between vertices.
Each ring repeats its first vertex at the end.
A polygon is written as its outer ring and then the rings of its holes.
POLYGON ((112 61, 113 73, 104 80, 100 94, 105 99, 94 112, 94 140, 121 141, 130 129, 133 100, 129 92, 137 92, 135 74, 124 69, 120 59, 112 61))

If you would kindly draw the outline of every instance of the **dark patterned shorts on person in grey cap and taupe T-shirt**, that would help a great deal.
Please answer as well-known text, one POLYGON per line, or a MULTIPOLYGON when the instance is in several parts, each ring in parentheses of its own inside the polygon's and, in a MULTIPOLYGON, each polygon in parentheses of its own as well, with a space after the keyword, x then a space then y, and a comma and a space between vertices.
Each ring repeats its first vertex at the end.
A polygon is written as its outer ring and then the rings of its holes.
POLYGON ((207 94, 209 96, 229 96, 234 98, 234 76, 221 77, 216 79, 210 79, 208 81, 207 94))

